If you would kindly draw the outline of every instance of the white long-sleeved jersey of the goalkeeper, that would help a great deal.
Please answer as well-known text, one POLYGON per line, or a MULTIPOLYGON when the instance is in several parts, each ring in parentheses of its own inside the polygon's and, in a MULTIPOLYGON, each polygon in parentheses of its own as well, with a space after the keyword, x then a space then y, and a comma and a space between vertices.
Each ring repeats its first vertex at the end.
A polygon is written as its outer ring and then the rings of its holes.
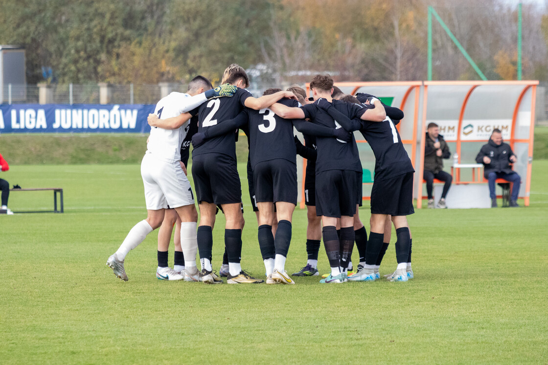
MULTIPOLYGON (((176 117, 181 113, 195 109, 206 100, 203 93, 195 96, 185 93, 170 93, 158 101, 155 113, 160 119, 176 117)), ((189 121, 178 129, 152 127, 146 153, 151 153, 165 162, 178 162, 181 159, 181 144, 188 130, 189 121)))

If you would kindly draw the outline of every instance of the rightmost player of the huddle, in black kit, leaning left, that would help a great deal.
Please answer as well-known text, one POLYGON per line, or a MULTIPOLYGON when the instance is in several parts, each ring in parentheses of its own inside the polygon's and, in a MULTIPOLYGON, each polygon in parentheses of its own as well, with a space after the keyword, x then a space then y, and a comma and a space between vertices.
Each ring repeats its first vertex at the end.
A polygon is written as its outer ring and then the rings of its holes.
MULTIPOLYGON (((376 107, 381 102, 371 98, 376 107)), ((359 102, 359 101, 355 101, 359 102)), ((361 104, 361 103, 360 103, 361 104)), ((413 174, 414 169, 403 147, 399 133, 390 119, 386 117, 381 123, 347 121, 340 116, 341 122, 352 123, 351 129, 362 133, 375 155, 375 180, 371 191, 370 234, 366 249, 366 265, 363 270, 352 277, 357 281, 376 280, 375 265, 383 247, 384 230, 387 216, 391 216, 396 227, 396 271, 387 277, 389 281, 408 280, 407 261, 410 253, 410 233, 407 215, 413 214, 413 174)))

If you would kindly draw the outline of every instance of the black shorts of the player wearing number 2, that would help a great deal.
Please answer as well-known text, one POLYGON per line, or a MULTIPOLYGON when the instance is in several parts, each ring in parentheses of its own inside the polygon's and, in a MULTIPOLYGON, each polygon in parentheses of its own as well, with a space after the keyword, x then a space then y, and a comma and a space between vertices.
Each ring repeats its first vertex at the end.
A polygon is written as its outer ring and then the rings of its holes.
POLYGON ((192 179, 198 203, 233 204, 242 202, 236 160, 223 153, 192 156, 192 179))

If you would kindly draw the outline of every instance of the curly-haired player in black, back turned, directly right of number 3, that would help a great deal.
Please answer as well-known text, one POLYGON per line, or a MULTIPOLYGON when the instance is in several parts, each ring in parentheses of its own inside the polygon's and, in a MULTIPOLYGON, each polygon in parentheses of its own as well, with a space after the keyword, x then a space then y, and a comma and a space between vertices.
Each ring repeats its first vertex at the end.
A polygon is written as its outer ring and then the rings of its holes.
MULTIPOLYGON (((329 75, 316 75, 310 82, 313 104, 301 108, 289 108, 280 104, 271 109, 283 118, 310 118, 316 124, 339 128, 338 118, 322 109, 335 107, 336 112, 345 115, 343 123, 350 132, 354 118, 382 121, 385 117, 383 105, 375 102, 375 109, 333 100, 333 79, 329 75), (332 105, 333 103, 333 105, 332 105)), ((336 114, 336 113, 335 113, 336 114)), ((354 244, 353 216, 357 205, 357 176, 362 171, 356 141, 352 136, 349 143, 333 138, 317 136, 318 156, 316 160, 316 214, 322 216, 323 242, 326 247, 331 273, 321 283, 342 283, 347 280, 352 247, 354 244), (340 239, 336 225, 340 220, 340 239)))

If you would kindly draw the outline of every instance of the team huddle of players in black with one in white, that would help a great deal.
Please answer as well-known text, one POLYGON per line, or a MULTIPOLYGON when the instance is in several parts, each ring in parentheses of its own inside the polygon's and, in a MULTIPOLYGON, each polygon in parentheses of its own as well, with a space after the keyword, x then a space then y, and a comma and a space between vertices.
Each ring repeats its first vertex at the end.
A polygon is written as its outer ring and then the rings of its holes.
POLYGON ((260 98, 254 98, 247 87, 246 71, 233 64, 225 70, 219 87, 214 89, 207 78, 197 76, 186 93, 171 93, 158 102, 148 118, 151 133, 141 162, 147 218, 129 231, 107 260, 115 275, 128 280, 125 256, 159 227, 158 279, 220 284, 224 283, 221 277, 226 276, 230 284, 264 282, 241 266, 244 219, 236 162, 241 129, 248 138, 249 193, 258 220, 266 284, 295 284, 285 266, 298 197, 297 154, 307 159, 308 258, 292 276, 319 275, 318 252, 323 238, 331 270, 321 283, 379 279, 393 224, 398 265, 385 276, 398 282, 413 278, 406 216, 414 212, 414 169, 395 127, 403 112, 373 95, 345 95, 333 86, 329 75, 312 79, 312 98, 296 85, 286 91, 267 89, 260 98), (293 128, 304 135, 305 145, 294 136, 293 128), (369 237, 358 215, 362 166, 353 136, 357 130, 375 155, 369 237), (190 141, 196 196, 186 176, 190 141), (225 254, 217 275, 212 248, 219 210, 225 214, 226 224, 225 254), (168 266, 168 247, 174 224, 172 269, 168 266), (359 264, 353 271, 355 243, 359 264))

